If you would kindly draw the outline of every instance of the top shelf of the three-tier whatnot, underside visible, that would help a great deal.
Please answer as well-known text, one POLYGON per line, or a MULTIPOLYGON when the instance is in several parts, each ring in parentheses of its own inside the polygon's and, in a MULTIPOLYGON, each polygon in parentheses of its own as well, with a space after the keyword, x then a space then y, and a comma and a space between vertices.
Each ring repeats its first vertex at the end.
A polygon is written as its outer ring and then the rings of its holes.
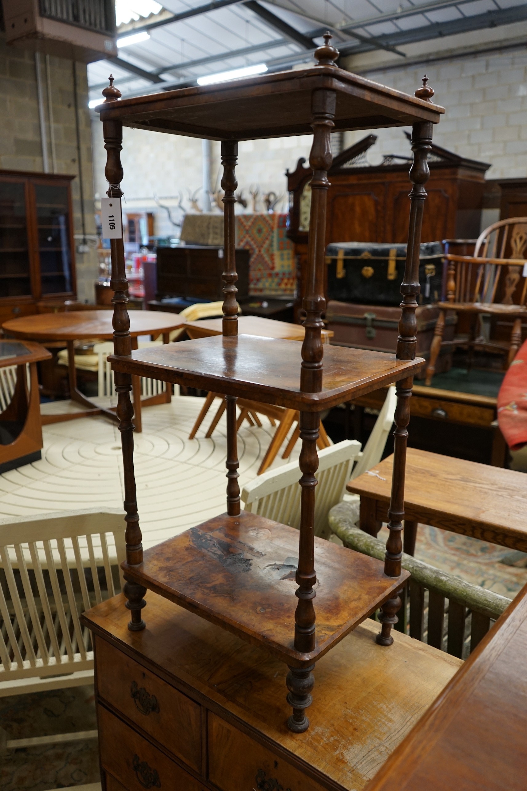
POLYGON ((444 108, 334 66, 280 71, 100 104, 102 121, 213 140, 311 134, 311 95, 335 91, 335 129, 438 123, 444 108))

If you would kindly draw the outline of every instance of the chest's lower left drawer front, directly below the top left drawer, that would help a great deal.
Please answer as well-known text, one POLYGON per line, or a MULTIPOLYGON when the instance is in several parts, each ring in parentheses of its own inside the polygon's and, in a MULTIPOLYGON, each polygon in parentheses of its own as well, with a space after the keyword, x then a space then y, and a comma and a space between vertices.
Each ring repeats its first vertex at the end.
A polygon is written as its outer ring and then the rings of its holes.
MULTIPOLYGON (((201 782, 104 706, 98 707, 97 721, 101 766, 119 778, 127 791, 206 791, 201 782)), ((116 791, 120 791, 119 785, 116 791)))

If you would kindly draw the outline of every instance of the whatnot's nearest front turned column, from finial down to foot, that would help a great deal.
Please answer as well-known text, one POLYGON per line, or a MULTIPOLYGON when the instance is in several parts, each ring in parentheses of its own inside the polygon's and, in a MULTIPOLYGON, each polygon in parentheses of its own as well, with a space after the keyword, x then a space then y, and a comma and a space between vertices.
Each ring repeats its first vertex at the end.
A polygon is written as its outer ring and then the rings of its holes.
MULTIPOLYGON (((317 66, 335 66, 338 51, 329 44, 331 36, 326 33, 325 44, 318 47, 314 56, 317 66)), ((313 171, 311 179, 311 214, 309 241, 307 247, 307 289, 303 298, 306 320, 303 326, 306 335, 302 343, 302 363, 300 369, 300 389, 303 392, 322 390, 322 345, 321 331, 324 326, 322 312, 326 308, 324 298, 324 267, 326 265, 326 202, 329 181, 327 172, 333 157, 329 135, 333 129, 336 94, 332 90, 318 89, 311 97, 311 128, 313 144, 309 163, 313 171)), ((299 565, 296 570, 298 589, 295 592, 298 604, 295 611, 295 649, 310 653, 315 647, 315 615, 313 600, 316 596, 317 574, 314 570, 314 489, 317 486, 315 473, 318 469, 317 440, 320 426, 318 412, 300 412, 299 430, 302 449, 299 467, 302 472, 300 486, 300 536, 299 565)), ((309 720, 307 706, 311 705, 311 689, 314 677, 311 670, 290 666, 287 685, 288 703, 292 706, 292 716, 288 727, 297 733, 307 730, 309 720)))

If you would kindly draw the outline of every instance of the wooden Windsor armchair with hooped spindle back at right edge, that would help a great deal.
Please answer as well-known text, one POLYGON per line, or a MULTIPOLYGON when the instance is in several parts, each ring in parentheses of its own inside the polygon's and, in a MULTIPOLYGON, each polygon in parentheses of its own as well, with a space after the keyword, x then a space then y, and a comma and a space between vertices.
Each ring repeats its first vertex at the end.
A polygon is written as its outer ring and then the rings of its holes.
POLYGON ((514 360, 521 345, 521 319, 527 317, 526 248, 527 217, 514 217, 489 225, 476 241, 474 255, 445 255, 446 301, 438 303, 440 312, 427 365, 427 385, 434 376, 448 311, 457 313, 458 328, 463 328, 464 314, 469 317, 469 334, 454 338, 456 346, 469 349, 469 364, 475 348, 507 354, 507 367, 514 360), (485 316, 514 320, 509 343, 491 341, 485 316))

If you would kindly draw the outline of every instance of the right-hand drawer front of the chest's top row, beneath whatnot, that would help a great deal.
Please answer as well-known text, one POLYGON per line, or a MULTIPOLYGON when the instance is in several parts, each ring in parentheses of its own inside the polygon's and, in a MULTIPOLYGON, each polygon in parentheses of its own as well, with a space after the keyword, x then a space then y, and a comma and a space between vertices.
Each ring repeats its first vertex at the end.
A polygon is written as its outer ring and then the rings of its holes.
POLYGON ((322 791, 322 785, 211 712, 208 730, 209 781, 221 791, 322 791))

